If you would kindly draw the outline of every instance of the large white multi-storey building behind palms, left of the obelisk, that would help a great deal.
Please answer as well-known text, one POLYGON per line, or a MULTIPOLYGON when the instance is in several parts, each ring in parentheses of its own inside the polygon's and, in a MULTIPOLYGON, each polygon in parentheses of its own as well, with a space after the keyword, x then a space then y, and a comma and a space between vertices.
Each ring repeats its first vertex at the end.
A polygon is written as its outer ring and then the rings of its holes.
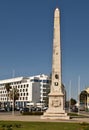
MULTIPOLYGON (((49 78, 46 75, 0 80, 0 102, 3 106, 7 104, 7 83, 19 91, 19 99, 16 101, 18 107, 25 107, 27 103, 44 102, 44 98, 48 96, 46 90, 49 90, 49 78)), ((8 102, 13 104, 10 98, 8 102)))

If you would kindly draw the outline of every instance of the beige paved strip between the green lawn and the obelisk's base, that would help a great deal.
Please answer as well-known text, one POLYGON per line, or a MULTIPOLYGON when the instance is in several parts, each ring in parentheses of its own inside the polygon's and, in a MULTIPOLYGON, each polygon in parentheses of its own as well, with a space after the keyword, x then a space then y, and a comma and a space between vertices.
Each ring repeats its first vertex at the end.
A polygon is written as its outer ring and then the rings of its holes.
POLYGON ((69 120, 54 120, 54 119, 41 119, 41 116, 30 115, 0 115, 0 121, 30 121, 30 122, 72 122, 72 123, 89 123, 89 117, 86 118, 72 118, 69 120))

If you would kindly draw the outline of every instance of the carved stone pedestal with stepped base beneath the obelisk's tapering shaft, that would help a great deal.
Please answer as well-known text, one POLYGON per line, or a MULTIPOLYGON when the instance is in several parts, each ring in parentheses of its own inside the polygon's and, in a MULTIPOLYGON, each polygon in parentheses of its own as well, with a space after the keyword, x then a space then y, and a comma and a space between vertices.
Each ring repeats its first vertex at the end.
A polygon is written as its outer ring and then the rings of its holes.
POLYGON ((49 108, 44 112, 41 119, 69 119, 64 108, 64 95, 62 93, 49 94, 49 108))

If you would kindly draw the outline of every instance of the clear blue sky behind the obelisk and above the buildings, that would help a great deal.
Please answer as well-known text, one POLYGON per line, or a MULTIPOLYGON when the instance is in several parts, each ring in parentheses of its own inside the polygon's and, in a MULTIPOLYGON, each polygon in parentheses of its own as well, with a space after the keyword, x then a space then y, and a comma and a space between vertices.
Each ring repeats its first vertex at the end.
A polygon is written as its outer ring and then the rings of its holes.
MULTIPOLYGON (((0 1, 0 79, 50 74, 53 15, 61 10, 62 81, 89 86, 89 0, 0 1)), ((76 97, 76 96, 75 96, 76 97)))

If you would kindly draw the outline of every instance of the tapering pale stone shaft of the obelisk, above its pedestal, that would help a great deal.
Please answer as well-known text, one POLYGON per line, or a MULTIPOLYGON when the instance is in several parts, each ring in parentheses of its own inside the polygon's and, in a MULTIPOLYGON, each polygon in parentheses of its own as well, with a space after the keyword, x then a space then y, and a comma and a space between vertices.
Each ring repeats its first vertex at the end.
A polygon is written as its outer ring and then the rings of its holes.
POLYGON ((52 59, 52 85, 51 92, 60 92, 61 78, 61 43, 60 43, 60 11, 54 12, 54 36, 53 36, 53 59, 52 59))

